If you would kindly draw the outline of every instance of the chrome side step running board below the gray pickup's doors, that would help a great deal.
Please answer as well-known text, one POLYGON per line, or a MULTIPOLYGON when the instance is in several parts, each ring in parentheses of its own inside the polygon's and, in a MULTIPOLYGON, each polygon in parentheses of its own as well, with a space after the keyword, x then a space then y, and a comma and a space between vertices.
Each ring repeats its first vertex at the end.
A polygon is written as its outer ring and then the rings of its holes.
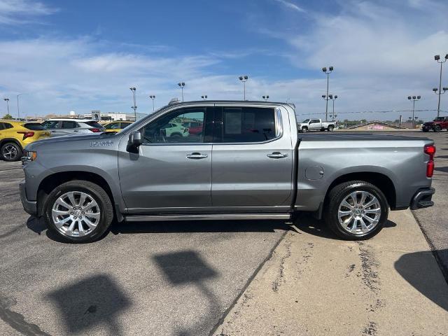
POLYGON ((179 215, 134 215, 125 216, 128 222, 149 221, 242 221, 246 219, 290 219, 290 214, 179 214, 179 215))

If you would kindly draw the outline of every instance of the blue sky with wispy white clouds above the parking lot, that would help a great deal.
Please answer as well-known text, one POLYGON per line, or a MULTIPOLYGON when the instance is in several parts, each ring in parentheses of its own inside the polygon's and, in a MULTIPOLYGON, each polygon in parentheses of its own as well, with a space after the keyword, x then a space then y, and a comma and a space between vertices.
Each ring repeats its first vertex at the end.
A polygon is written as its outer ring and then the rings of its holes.
POLYGON ((156 109, 180 99, 179 81, 185 100, 243 99, 247 75, 246 99, 268 94, 294 103, 299 119, 325 118, 321 69, 334 66, 337 119, 406 119, 409 95, 421 95, 416 109, 437 109, 447 13, 436 0, 0 0, 0 97, 14 117, 20 93, 22 117, 132 113, 137 87, 137 112, 151 113, 149 95, 156 109))

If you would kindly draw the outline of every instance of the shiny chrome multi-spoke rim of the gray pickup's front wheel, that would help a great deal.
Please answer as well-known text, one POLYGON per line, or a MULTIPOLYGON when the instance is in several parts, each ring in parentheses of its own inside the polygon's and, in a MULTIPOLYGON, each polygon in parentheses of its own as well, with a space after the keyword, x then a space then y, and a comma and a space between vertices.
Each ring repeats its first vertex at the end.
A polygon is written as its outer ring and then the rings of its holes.
POLYGON ((70 191, 57 198, 52 206, 51 216, 57 230, 64 235, 82 237, 97 228, 101 211, 91 195, 70 191))

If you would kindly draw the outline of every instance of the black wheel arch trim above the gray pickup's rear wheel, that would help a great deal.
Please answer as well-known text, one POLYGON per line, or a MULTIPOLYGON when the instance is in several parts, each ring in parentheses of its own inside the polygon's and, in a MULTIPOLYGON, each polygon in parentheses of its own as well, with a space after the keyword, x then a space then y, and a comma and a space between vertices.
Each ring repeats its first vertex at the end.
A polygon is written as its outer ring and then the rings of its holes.
MULTIPOLYGON (((379 190, 381 190, 381 192, 384 193, 388 206, 391 208, 391 210, 395 210, 397 202, 397 194, 395 191, 393 181, 387 175, 377 172, 353 172, 337 177, 337 179, 332 181, 330 186, 328 186, 327 188, 327 192, 325 193, 325 200, 323 202, 323 207, 325 207, 326 204, 328 204, 328 195, 330 194, 332 188, 334 188, 338 184, 349 181, 364 181, 367 183, 371 183, 375 187, 379 188, 379 190)), ((320 213, 321 211, 318 212, 320 213)))

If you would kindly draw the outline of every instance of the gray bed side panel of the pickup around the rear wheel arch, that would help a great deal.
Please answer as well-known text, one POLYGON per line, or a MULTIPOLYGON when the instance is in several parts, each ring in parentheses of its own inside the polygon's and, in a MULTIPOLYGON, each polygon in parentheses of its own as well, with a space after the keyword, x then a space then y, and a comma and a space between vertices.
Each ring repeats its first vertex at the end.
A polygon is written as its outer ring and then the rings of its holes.
POLYGON ((432 141, 426 139, 302 139, 298 151, 298 192, 295 209, 318 210, 335 179, 359 172, 386 175, 395 187, 396 207, 409 207, 416 191, 431 185, 431 179, 426 177, 428 158, 423 153, 423 146, 430 143, 432 141), (307 173, 307 169, 312 171, 313 167, 321 167, 323 176, 307 173))

